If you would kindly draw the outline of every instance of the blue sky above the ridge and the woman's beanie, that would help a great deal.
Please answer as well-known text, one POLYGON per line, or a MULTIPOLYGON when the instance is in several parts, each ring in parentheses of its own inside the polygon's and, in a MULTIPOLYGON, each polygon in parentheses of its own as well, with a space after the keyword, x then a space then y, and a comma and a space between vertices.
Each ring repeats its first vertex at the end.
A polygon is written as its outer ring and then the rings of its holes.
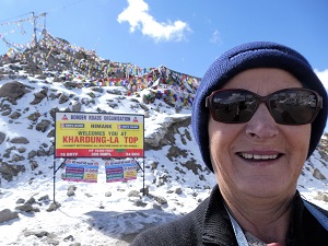
MULTIPOLYGON (((15 22, 46 12, 38 28, 102 58, 195 77, 233 46, 272 40, 303 54, 328 87, 327 7, 325 0, 1 0, 0 34, 25 44, 33 25, 15 22)), ((0 39, 0 54, 7 50, 0 39)))

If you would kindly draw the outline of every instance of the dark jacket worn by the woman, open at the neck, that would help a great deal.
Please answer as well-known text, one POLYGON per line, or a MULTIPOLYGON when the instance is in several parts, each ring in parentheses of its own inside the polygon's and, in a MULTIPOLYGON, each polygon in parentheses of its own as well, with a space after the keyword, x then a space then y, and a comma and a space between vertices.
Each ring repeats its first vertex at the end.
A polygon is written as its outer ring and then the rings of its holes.
MULTIPOLYGON (((317 208, 317 207, 316 207, 317 208)), ((328 211, 320 209, 328 215, 328 211)), ((288 246, 328 245, 328 232, 303 204, 297 191, 288 246)), ((139 234, 131 246, 220 245, 237 246, 218 185, 211 196, 190 213, 139 234)))

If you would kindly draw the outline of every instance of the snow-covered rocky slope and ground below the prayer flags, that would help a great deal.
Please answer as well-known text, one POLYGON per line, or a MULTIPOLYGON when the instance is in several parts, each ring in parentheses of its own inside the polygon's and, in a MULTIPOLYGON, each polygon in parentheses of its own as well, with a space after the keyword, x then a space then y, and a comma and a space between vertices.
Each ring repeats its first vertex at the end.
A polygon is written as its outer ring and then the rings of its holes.
MULTIPOLYGON (((30 91, 0 97, 0 211, 13 215, 0 224, 0 245, 127 245, 140 231, 191 211, 215 184, 194 141, 190 107, 145 102, 148 89, 130 94, 126 86, 74 87, 85 82, 82 75, 56 82, 56 75, 42 77, 45 71, 26 72, 20 61, 0 71, 0 90, 17 81, 30 91), (106 183, 103 160, 96 184, 66 181, 59 168, 54 187, 54 164, 62 162, 54 160, 56 110, 144 115, 147 149, 139 162, 149 195, 140 191, 141 169, 137 180, 106 183), (60 207, 50 211, 54 197, 60 207)), ((298 189, 328 209, 325 141, 305 163, 298 189)))

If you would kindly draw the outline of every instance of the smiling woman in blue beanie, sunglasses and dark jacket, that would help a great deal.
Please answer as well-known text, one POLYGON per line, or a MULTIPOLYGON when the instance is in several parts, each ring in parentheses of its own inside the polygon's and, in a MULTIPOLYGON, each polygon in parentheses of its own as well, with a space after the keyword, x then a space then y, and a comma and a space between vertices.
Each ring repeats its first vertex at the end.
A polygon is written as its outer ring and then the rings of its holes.
POLYGON ((229 50, 204 74, 191 117, 218 186, 132 245, 328 245, 328 212, 296 189, 327 119, 327 93, 303 56, 265 42, 229 50))

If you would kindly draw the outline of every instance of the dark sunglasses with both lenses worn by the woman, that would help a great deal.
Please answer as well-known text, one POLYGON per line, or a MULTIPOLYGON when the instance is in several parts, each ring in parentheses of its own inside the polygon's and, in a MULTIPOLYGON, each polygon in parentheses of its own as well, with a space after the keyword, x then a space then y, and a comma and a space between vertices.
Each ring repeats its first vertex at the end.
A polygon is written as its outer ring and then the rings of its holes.
POLYGON ((212 92, 206 98, 215 121, 226 124, 247 122, 260 103, 265 103, 276 122, 305 125, 315 120, 323 108, 323 97, 308 89, 284 89, 260 96, 243 89, 226 89, 212 92))

